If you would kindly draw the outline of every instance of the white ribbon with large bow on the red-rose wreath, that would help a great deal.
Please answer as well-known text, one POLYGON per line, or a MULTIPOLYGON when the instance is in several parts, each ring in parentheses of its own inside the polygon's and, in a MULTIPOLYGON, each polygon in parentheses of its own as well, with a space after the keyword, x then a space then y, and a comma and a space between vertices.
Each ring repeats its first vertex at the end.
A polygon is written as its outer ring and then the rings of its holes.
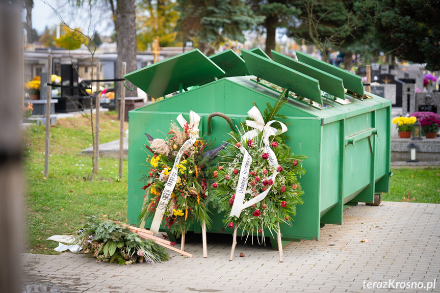
MULTIPOLYGON (((252 109, 249 110, 247 113, 249 117, 254 119, 254 121, 246 120, 246 125, 255 129, 247 131, 243 137, 241 138, 242 146, 240 147, 240 151, 243 153, 243 163, 241 165, 240 170, 240 177, 237 184, 237 190, 235 194, 234 203, 232 204, 232 209, 229 214, 229 217, 236 216, 240 217, 241 211, 252 204, 255 204, 259 201, 262 201, 269 193, 270 189, 272 188, 272 185, 269 185, 269 188, 262 192, 261 194, 255 196, 254 198, 248 200, 247 202, 243 203, 244 196, 246 194, 247 189, 247 183, 248 183, 248 177, 249 177, 249 169, 250 165, 252 164, 252 157, 246 150, 246 148, 243 146, 247 143, 248 140, 253 139, 254 137, 258 136, 258 133, 263 131, 263 142, 265 144, 265 152, 269 154, 268 162, 271 167, 277 168, 278 161, 276 159, 276 155, 273 152, 273 150, 270 148, 269 144, 269 137, 274 136, 277 134, 277 129, 270 126, 274 122, 278 122, 281 125, 280 133, 284 133, 287 131, 287 126, 284 123, 281 123, 277 120, 271 120, 267 122, 267 124, 264 124, 263 116, 261 115, 260 111, 256 108, 256 106, 253 106, 252 109)), ((275 181, 276 175, 278 172, 274 172, 270 179, 275 181)))

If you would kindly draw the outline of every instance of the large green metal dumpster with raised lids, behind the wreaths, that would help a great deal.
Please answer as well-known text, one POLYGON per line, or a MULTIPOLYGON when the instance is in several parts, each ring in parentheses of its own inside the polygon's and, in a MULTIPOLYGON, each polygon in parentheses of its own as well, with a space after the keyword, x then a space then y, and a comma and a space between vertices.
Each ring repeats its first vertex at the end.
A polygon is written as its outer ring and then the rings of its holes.
MULTIPOLYGON (((359 76, 300 52, 294 60, 273 51, 272 61, 260 51, 242 50, 239 56, 228 50, 208 58, 194 49, 125 75, 153 98, 169 95, 129 113, 128 223, 139 225, 144 200, 138 181, 139 170, 147 168, 144 132, 163 138, 157 130, 166 133, 180 113, 188 120, 190 110, 201 117, 201 134, 208 132, 213 112, 239 125, 253 102, 264 109, 281 89, 289 90, 289 102, 280 111, 288 117, 283 122, 291 123, 287 144, 308 157, 299 179, 304 204, 297 206, 292 226, 281 225, 283 241, 317 240, 324 224, 343 224, 344 205, 371 203, 375 193, 389 192, 391 101, 364 92, 359 76), (187 90, 193 86, 198 87, 187 90)), ((216 139, 216 147, 229 138, 230 128, 220 118, 211 124, 208 139, 216 139)), ((208 232, 232 234, 222 215, 212 212, 208 232)), ((151 220, 145 227, 150 225, 151 220)), ((194 224, 192 231, 201 227, 194 224)))

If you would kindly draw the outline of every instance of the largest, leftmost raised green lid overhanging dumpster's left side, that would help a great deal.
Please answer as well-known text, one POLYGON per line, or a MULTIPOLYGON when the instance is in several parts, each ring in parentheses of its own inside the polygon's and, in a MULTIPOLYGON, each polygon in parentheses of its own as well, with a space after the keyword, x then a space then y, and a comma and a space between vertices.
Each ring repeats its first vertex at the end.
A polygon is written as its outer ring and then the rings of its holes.
POLYGON ((124 77, 154 99, 184 88, 215 81, 225 72, 198 49, 127 73, 124 77))

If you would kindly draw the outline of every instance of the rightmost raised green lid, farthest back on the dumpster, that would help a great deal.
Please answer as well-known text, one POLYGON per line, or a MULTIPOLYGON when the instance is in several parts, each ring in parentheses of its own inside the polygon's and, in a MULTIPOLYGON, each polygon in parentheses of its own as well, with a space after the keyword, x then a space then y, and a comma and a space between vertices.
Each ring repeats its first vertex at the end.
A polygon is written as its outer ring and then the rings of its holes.
POLYGON ((296 57, 299 61, 323 70, 331 75, 342 78, 344 86, 347 90, 355 92, 360 96, 364 96, 364 85, 362 84, 362 78, 356 74, 345 71, 342 68, 328 64, 327 62, 310 57, 307 54, 296 51, 296 57))

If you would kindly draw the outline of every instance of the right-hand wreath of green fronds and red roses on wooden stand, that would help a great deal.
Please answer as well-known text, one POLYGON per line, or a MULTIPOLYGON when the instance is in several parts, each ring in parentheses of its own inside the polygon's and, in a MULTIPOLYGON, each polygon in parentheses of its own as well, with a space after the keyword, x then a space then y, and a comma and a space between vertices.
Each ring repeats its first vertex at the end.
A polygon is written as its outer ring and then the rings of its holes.
MULTIPOLYGON (((303 203, 301 199, 303 191, 297 176, 301 176, 305 172, 302 168, 302 161, 306 157, 291 152, 291 149, 284 143, 284 139, 287 137, 280 135, 280 130, 275 129, 275 132, 272 133, 274 136, 267 140, 267 132, 270 129, 270 125, 267 124, 272 118, 278 116, 276 112, 282 104, 283 102, 278 101, 272 108, 268 103, 264 118, 254 107, 253 111, 256 110, 260 115, 260 120, 264 120, 266 126, 250 130, 256 131, 254 132, 256 135, 252 139, 247 139, 249 136, 246 134, 250 131, 249 128, 245 130, 246 126, 243 127, 243 131, 247 131, 245 134, 242 134, 241 131, 239 133, 230 132, 232 138, 228 141, 229 145, 218 154, 218 167, 212 170, 212 175, 216 180, 212 184, 215 190, 214 202, 219 207, 219 211, 224 211, 223 222, 231 228, 242 229, 243 233, 247 232, 247 235, 252 234, 253 236, 255 233, 257 236, 264 237, 265 229, 268 229, 274 236, 272 231, 279 233, 279 223, 290 224, 295 215, 295 205, 303 203), (238 214, 232 215, 234 214, 232 209, 236 200, 237 187, 240 182, 243 182, 240 181, 241 169, 244 166, 242 162, 245 156, 243 148, 251 156, 244 203, 268 189, 269 192, 261 201, 257 201, 238 214), (275 154, 277 164, 269 162, 271 158, 268 148, 275 154), (277 174, 273 176, 275 172, 277 174), (273 180, 273 178, 275 179, 273 180)), ((252 123, 247 123, 247 125, 252 125, 252 123)))

